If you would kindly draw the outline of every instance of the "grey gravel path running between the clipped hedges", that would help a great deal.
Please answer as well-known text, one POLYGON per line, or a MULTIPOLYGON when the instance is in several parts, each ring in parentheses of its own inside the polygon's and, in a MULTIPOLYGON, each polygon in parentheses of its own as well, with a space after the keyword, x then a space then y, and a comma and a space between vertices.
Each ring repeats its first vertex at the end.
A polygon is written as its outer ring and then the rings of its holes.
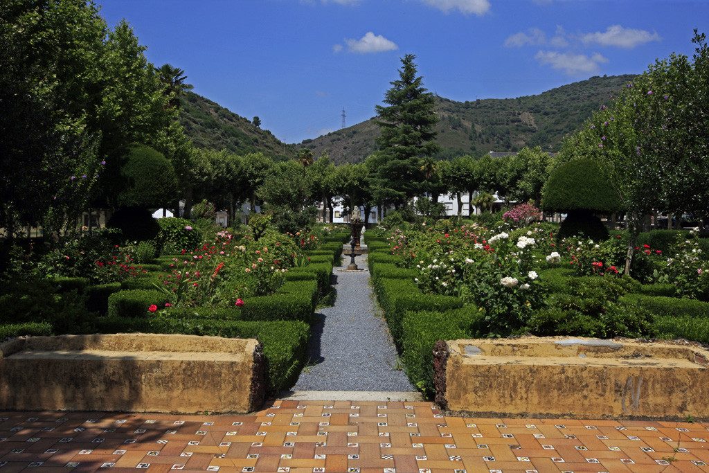
POLYGON ((309 347, 310 363, 295 391, 415 391, 408 382, 384 318, 374 308, 367 255, 355 257, 360 272, 333 268, 337 299, 317 313, 309 347))

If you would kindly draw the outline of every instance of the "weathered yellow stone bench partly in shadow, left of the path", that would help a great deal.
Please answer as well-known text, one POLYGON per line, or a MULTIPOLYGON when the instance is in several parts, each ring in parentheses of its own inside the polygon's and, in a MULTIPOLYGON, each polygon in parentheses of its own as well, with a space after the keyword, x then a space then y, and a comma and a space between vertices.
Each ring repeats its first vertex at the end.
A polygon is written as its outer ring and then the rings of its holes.
POLYGON ((61 335, 0 345, 0 409, 248 412, 264 399, 257 340, 61 335))

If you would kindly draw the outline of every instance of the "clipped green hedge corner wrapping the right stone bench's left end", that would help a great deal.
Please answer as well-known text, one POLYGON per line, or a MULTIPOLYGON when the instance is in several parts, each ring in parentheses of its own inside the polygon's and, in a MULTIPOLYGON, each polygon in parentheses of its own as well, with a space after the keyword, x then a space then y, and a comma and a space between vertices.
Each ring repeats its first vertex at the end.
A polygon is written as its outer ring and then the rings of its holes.
POLYGON ((476 306, 452 311, 406 311, 403 314, 401 359, 408 379, 421 391, 432 394, 433 345, 438 340, 478 338, 483 316, 476 306))

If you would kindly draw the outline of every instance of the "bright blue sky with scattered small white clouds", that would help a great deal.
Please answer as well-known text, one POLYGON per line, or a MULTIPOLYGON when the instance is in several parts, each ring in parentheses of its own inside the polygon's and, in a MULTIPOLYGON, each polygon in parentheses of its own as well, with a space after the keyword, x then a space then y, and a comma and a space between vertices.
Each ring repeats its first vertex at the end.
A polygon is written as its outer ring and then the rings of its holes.
POLYGON ((400 58, 457 101, 640 74, 709 35, 709 0, 96 0, 153 64, 286 143, 374 116, 400 58))

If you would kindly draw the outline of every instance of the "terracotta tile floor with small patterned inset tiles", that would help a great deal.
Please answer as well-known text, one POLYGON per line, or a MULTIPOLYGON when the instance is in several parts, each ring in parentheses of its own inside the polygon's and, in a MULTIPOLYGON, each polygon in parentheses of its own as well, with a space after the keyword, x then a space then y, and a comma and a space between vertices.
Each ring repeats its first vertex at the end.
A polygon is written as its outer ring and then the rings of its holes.
POLYGON ((708 464, 709 423, 448 417, 428 402, 275 401, 248 416, 0 412, 0 473, 709 472, 708 464))

